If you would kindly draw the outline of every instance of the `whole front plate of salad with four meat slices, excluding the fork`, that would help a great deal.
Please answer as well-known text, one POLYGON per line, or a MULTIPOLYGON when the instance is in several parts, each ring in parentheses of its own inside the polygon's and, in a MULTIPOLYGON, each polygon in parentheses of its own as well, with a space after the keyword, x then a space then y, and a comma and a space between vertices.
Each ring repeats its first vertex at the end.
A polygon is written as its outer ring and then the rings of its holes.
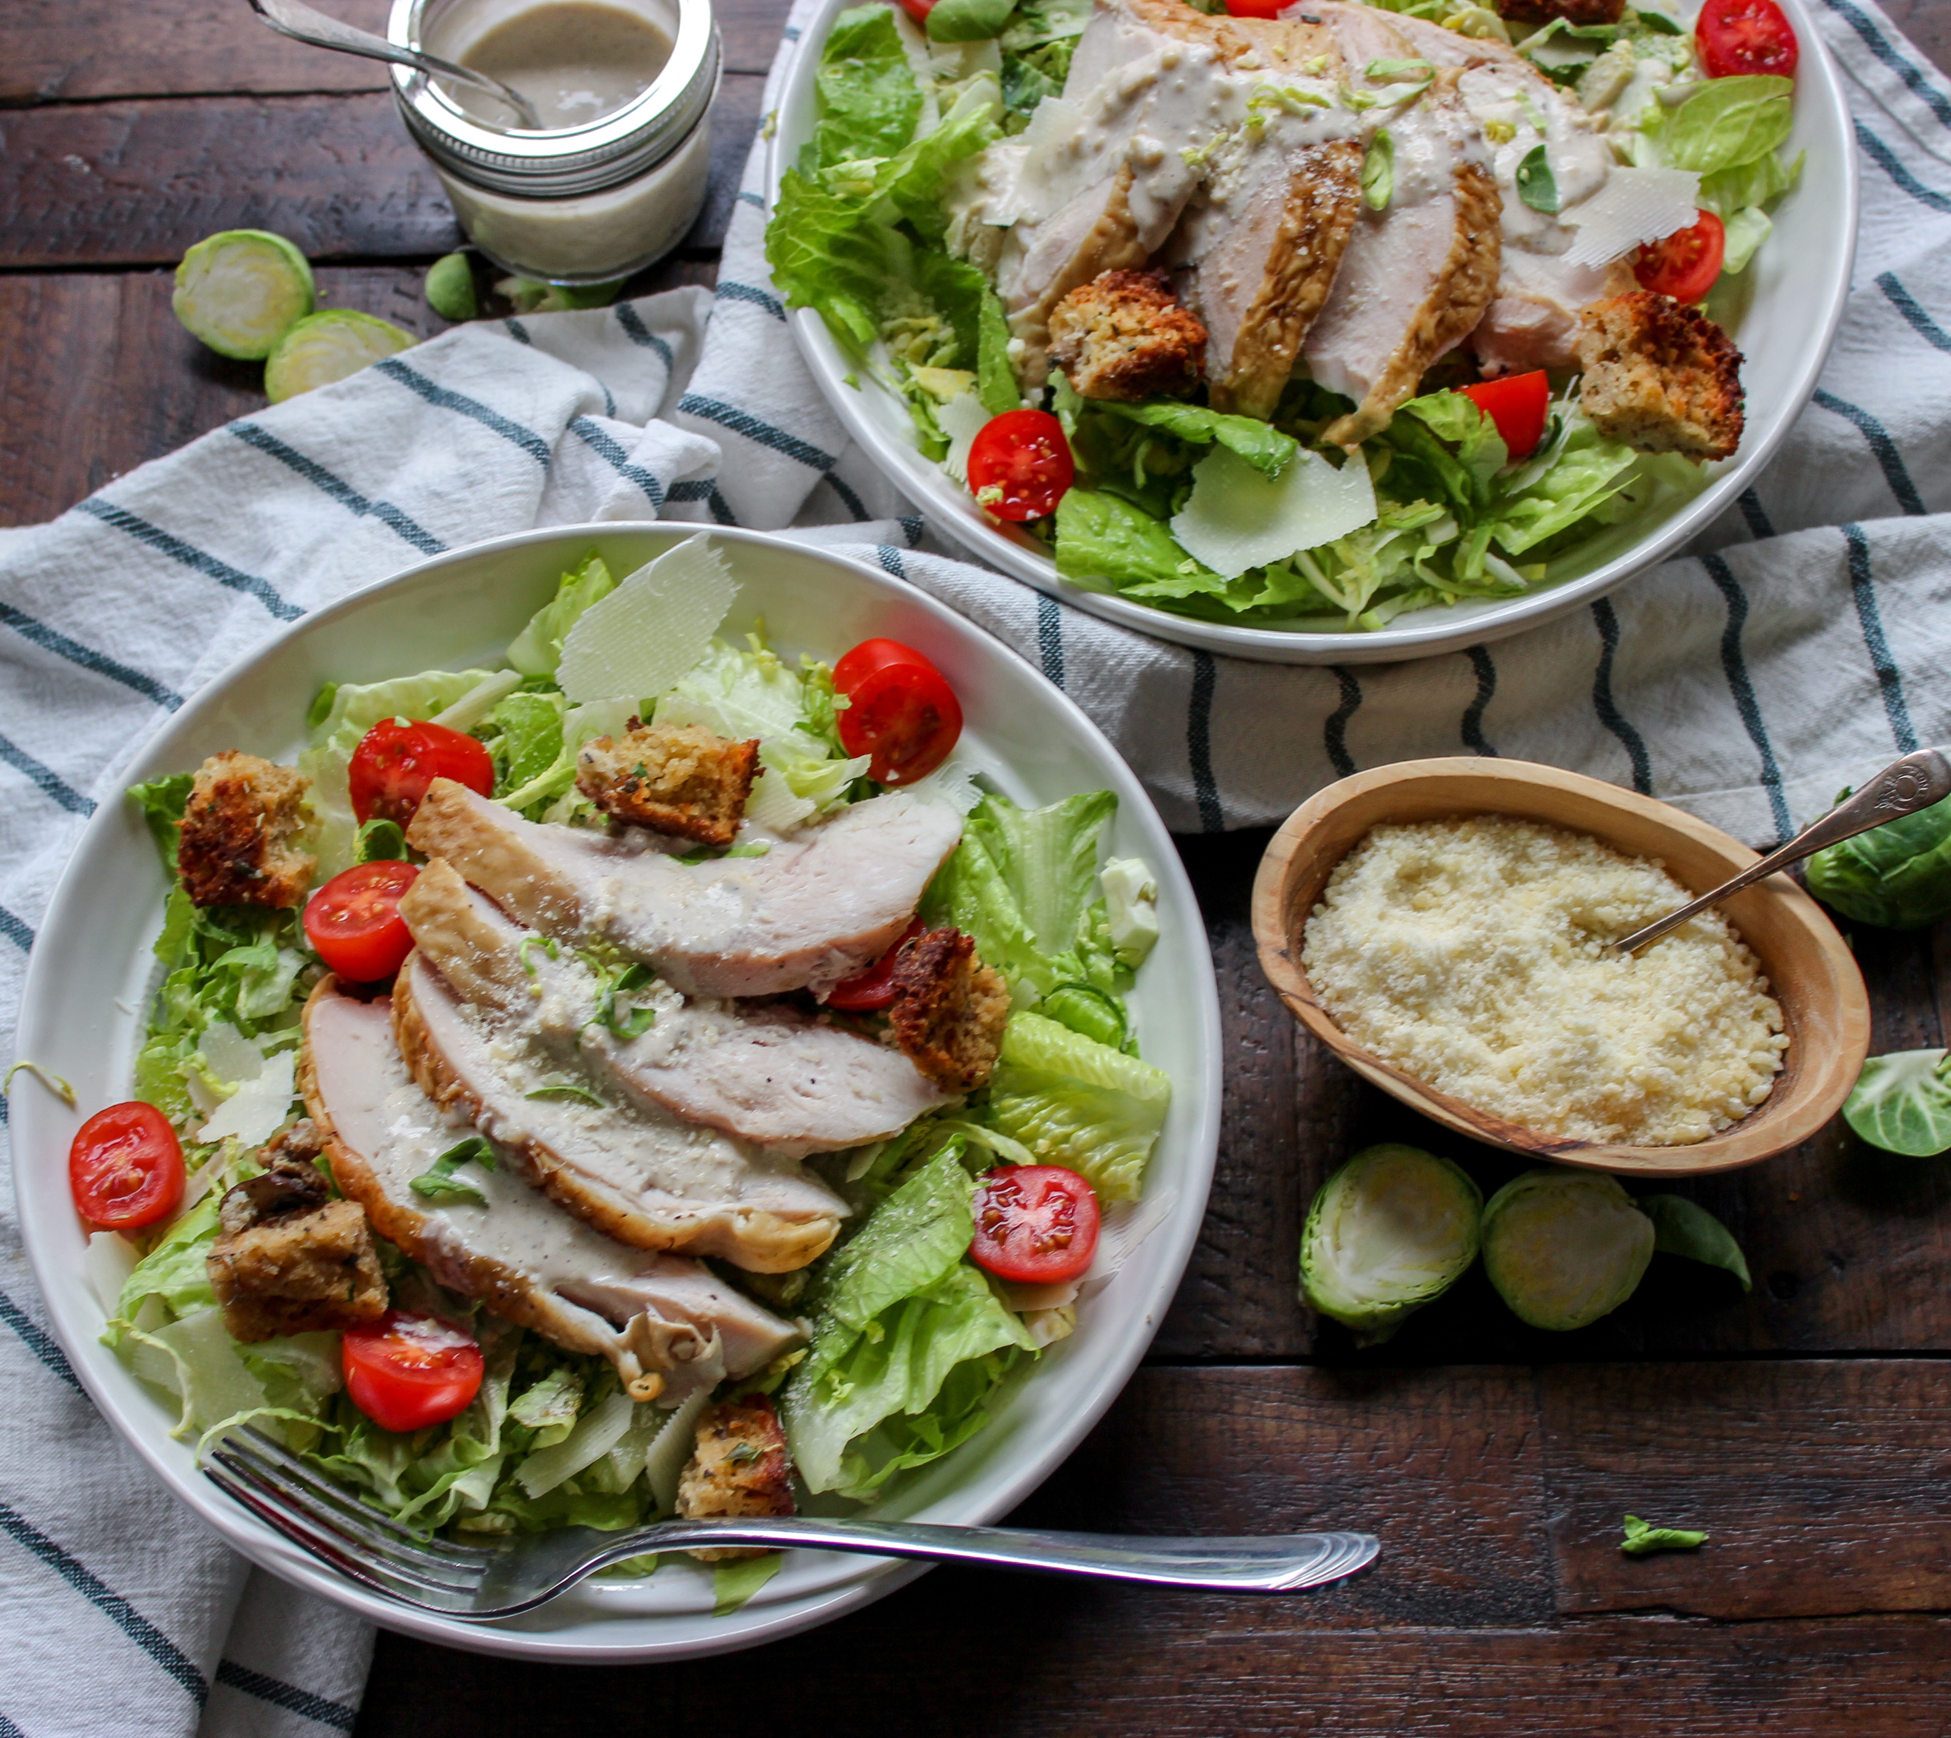
POLYGON ((915 1570, 638 1560, 390 1605, 197 1477, 226 1430, 455 1537, 991 1520, 1198 1229, 1217 1010, 1110 747, 886 575, 751 533, 443 556, 219 681, 35 952, 21 1215, 90 1393, 259 1562, 392 1627, 718 1652, 915 1570))

